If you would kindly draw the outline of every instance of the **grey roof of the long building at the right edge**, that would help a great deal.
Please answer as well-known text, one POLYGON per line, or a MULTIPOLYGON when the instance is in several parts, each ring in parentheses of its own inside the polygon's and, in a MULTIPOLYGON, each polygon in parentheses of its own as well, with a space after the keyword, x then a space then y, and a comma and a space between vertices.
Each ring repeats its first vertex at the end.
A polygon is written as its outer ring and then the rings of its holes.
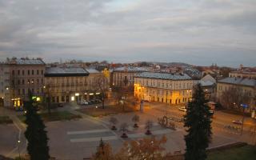
POLYGON ((224 78, 222 80, 219 80, 218 82, 242 86, 256 86, 256 80, 250 78, 224 78))

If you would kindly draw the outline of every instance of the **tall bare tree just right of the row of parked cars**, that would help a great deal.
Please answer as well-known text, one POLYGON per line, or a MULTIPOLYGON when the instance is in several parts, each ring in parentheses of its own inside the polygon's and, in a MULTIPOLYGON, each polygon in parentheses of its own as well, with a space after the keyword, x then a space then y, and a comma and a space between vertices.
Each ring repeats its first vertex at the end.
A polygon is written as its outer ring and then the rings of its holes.
POLYGON ((106 97, 106 92, 108 89, 109 89, 108 78, 106 78, 106 76, 104 74, 98 75, 95 78, 94 90, 99 91, 102 94, 102 96, 101 96, 102 109, 105 108, 105 97, 106 97))

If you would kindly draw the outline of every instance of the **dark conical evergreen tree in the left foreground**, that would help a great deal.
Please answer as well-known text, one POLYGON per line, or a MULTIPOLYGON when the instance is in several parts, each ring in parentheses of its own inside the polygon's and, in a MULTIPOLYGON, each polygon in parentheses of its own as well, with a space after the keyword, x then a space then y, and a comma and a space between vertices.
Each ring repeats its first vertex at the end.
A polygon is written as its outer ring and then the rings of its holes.
POLYGON ((48 160, 49 146, 46 135, 46 126, 35 110, 36 103, 30 97, 28 102, 24 102, 26 108, 26 132, 25 137, 28 141, 27 152, 31 160, 48 160))

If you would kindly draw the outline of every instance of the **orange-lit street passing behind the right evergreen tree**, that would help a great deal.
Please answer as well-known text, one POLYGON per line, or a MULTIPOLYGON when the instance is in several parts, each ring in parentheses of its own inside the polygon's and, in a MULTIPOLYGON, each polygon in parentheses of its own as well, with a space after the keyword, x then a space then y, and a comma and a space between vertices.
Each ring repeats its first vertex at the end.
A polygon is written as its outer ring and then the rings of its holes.
MULTIPOLYGON (((185 112, 178 110, 179 106, 169 106, 164 103, 158 102, 146 102, 146 114, 152 114, 152 116, 163 116, 183 118, 185 112)), ((232 123, 233 120, 242 119, 241 115, 227 114, 222 110, 215 110, 214 118, 212 118, 212 128, 214 134, 226 136, 229 138, 234 138, 242 142, 248 142, 250 144, 255 144, 256 141, 256 120, 250 117, 246 117, 244 121, 244 127, 242 135, 238 130, 229 130, 225 126, 236 126, 241 128, 240 125, 235 125, 232 123)), ((176 123, 176 125, 182 128, 182 123, 176 123)))

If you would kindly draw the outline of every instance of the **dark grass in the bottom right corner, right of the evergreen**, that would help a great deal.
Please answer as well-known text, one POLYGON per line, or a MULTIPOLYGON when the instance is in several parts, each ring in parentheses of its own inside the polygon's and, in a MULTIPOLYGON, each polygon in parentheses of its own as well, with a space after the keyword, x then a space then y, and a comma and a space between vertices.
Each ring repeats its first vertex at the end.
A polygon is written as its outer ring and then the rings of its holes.
POLYGON ((246 145, 226 150, 210 151, 207 160, 254 160, 255 157, 256 146, 246 145))

